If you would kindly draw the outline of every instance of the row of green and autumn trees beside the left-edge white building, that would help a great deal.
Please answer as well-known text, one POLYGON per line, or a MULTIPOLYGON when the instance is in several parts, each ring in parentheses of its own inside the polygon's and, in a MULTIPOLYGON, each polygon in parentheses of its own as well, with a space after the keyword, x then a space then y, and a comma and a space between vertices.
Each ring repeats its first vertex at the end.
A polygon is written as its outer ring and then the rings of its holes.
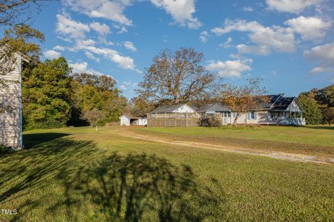
POLYGON ((87 126, 118 121, 127 99, 110 76, 72 74, 67 60, 60 57, 41 61, 42 33, 26 25, 6 29, 1 42, 29 56, 22 67, 22 117, 25 130, 87 126), (91 119, 102 112, 99 121, 91 119))

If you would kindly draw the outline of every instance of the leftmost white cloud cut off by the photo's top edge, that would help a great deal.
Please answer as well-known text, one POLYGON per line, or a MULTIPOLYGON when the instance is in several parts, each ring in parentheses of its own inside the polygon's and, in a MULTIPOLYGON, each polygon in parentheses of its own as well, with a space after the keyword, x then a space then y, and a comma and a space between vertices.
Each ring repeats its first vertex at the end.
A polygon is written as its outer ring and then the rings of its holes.
POLYGON ((109 19, 119 24, 131 26, 132 21, 125 17, 124 10, 130 6, 130 0, 66 0, 65 5, 72 10, 84 13, 89 17, 109 19))

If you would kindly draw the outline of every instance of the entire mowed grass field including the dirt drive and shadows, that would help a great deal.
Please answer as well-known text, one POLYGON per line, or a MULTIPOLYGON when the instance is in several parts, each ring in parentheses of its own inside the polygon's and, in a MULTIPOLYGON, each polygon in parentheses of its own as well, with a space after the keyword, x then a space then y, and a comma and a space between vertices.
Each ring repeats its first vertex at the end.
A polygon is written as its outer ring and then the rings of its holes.
POLYGON ((0 158, 0 208, 18 210, 3 221, 334 219, 331 127, 61 128, 24 144, 0 158))

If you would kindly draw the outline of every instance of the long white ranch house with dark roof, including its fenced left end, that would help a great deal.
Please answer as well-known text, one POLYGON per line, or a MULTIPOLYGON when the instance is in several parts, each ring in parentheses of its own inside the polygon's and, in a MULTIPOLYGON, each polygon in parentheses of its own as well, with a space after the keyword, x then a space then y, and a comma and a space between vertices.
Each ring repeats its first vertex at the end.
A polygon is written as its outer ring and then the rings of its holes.
POLYGON ((217 114, 222 125, 234 123, 237 115, 237 124, 305 125, 303 108, 296 97, 278 94, 269 95, 268 98, 268 103, 262 103, 244 114, 218 103, 200 108, 191 108, 186 104, 162 105, 148 114, 148 126, 198 126, 196 119, 209 114, 217 114))

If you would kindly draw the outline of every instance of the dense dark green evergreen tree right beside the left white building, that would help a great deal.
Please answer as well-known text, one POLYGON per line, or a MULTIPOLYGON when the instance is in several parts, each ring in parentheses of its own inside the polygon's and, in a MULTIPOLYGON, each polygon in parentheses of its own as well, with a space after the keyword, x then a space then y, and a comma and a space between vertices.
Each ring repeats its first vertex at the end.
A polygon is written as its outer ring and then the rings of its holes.
POLYGON ((70 119, 71 68, 65 58, 22 72, 24 128, 56 128, 70 119))

